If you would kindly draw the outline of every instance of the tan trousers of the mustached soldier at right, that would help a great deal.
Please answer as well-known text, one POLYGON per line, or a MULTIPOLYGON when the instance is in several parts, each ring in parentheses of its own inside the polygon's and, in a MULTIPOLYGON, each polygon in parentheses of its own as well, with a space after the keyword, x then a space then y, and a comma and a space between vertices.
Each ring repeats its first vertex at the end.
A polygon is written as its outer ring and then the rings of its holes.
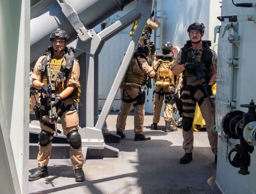
MULTIPOLYGON (((184 90, 184 91, 181 92, 181 96, 183 94, 190 95, 190 91, 185 91, 184 90)), ((201 99, 202 96, 203 96, 203 92, 199 89, 199 90, 196 91, 196 93, 194 94, 193 97, 198 102, 198 100, 201 99)), ((182 103, 196 104, 196 102, 194 102, 192 99, 182 99, 182 97, 181 97, 181 101, 182 101, 182 103)), ((183 105, 182 108, 183 108, 183 110, 191 110, 191 112, 192 112, 192 113, 183 112, 182 113, 183 116, 194 118, 196 106, 189 106, 188 107, 188 106, 183 105)), ((211 103, 210 103, 210 99, 208 97, 206 97, 203 100, 202 104, 199 105, 199 108, 202 112, 203 118, 205 119, 206 130, 207 130, 208 140, 210 142, 211 150, 212 150, 214 155, 217 155, 218 134, 212 132, 212 130, 211 130, 211 117, 212 116, 215 117, 215 103, 214 103, 214 108, 213 108, 211 103)), ((184 120, 184 118, 183 118, 183 120, 184 120)), ((193 122, 193 120, 192 120, 192 122, 193 122)), ((183 149, 184 149, 185 153, 192 153, 193 143, 194 143, 193 127, 191 127, 191 129, 189 131, 182 130, 182 135, 183 135, 183 139, 184 139, 183 149)))

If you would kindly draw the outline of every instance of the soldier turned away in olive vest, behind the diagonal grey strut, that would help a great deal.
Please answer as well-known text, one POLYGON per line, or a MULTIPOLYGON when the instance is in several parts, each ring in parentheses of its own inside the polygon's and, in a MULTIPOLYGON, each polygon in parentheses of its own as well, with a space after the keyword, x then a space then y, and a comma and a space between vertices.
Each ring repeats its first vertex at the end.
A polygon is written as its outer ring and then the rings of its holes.
POLYGON ((116 134, 120 135, 121 139, 125 138, 123 132, 126 125, 126 118, 132 105, 134 107, 134 140, 151 139, 150 136, 143 134, 145 92, 141 89, 145 85, 147 75, 150 77, 154 77, 155 75, 153 68, 148 64, 146 59, 148 54, 149 49, 145 45, 139 46, 136 49, 120 86, 121 105, 116 121, 116 134))

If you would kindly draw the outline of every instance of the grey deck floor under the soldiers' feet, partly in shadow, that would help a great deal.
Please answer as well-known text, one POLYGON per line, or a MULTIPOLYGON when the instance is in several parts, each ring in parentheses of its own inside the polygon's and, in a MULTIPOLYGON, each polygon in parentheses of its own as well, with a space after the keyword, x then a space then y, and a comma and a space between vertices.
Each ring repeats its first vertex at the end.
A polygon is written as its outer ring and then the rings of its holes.
MULTIPOLYGON (((117 112, 111 112, 106 120, 113 134, 116 117, 117 112)), ((120 150, 119 158, 86 160, 85 182, 75 182, 70 159, 51 159, 50 176, 29 182, 29 193, 221 193, 215 184, 216 164, 207 133, 194 133, 193 161, 182 165, 182 130, 153 131, 151 122, 152 116, 146 115, 144 131, 152 139, 133 141, 133 116, 128 116, 126 138, 109 144, 120 150)), ((164 128, 163 118, 159 128, 164 128)), ((36 167, 37 161, 29 160, 29 172, 36 167)))

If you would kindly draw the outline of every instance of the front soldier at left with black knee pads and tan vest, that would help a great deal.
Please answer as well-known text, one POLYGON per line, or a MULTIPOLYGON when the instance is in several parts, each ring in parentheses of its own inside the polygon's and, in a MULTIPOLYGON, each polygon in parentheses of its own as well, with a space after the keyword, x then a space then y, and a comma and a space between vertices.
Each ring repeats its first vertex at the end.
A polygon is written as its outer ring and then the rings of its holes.
POLYGON ((37 155, 38 168, 29 175, 29 181, 34 181, 48 176, 47 164, 50 159, 52 139, 54 135, 54 121, 50 119, 51 113, 49 96, 49 83, 47 83, 46 71, 50 68, 51 84, 55 87, 55 101, 57 115, 60 117, 63 133, 70 143, 70 158, 75 170, 76 182, 85 180, 82 170, 84 156, 82 154, 81 137, 78 133, 79 118, 76 103, 80 97, 80 68, 74 59, 74 48, 66 47, 67 32, 57 29, 50 34, 52 46, 39 57, 35 64, 33 74, 33 86, 41 90, 40 99, 40 127, 38 135, 39 152, 37 155))

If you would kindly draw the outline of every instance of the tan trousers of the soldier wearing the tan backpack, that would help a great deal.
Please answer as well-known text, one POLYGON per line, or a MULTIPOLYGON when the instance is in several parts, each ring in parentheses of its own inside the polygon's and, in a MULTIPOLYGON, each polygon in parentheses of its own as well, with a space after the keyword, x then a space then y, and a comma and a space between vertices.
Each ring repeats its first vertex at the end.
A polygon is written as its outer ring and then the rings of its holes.
MULTIPOLYGON (((162 92, 170 92, 171 91, 172 86, 169 86, 167 88, 162 88, 161 87, 156 87, 155 91, 159 92, 161 90, 162 92)), ((155 101, 154 101, 154 108, 153 108, 153 123, 159 123, 160 120, 160 115, 161 115, 161 110, 162 110, 162 106, 163 106, 163 98, 164 95, 159 95, 159 94, 155 94, 155 101)), ((177 126, 177 123, 175 122, 175 120, 172 117, 172 112, 173 112, 173 105, 172 104, 168 104, 165 103, 164 106, 164 120, 165 121, 171 121, 172 124, 174 126, 177 126)))

